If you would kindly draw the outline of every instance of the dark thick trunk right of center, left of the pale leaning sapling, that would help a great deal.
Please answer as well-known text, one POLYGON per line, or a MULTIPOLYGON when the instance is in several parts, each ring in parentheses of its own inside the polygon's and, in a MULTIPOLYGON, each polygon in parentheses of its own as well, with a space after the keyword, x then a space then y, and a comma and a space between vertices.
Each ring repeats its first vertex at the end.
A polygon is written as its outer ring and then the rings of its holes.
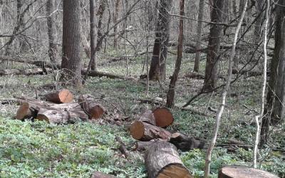
MULTIPOLYGON (((222 23, 224 14, 224 0, 213 0, 213 9, 211 12, 211 21, 222 23)), ((203 90, 212 90, 217 85, 218 63, 219 63, 219 46, 222 38, 222 26, 211 24, 209 32, 209 52, 205 69, 205 78, 203 90)))

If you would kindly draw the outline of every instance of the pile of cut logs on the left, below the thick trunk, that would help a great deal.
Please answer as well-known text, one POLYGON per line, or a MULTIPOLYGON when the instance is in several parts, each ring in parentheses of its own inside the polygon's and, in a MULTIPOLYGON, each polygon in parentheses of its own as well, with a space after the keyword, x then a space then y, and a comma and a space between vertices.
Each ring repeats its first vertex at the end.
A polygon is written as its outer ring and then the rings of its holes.
POLYGON ((73 94, 69 90, 48 93, 41 99, 18 98, 21 105, 16 119, 31 118, 53 124, 68 124, 96 120, 105 113, 105 108, 88 95, 81 95, 78 102, 73 102, 73 94))

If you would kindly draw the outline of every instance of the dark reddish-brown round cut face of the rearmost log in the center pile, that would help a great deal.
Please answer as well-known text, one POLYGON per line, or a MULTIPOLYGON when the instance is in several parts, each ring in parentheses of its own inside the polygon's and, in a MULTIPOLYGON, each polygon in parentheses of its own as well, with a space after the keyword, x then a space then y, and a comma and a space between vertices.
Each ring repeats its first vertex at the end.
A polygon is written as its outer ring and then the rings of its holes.
POLYGON ((158 127, 167 127, 174 121, 172 113, 167 108, 156 108, 152 113, 155 116, 155 125, 158 127))

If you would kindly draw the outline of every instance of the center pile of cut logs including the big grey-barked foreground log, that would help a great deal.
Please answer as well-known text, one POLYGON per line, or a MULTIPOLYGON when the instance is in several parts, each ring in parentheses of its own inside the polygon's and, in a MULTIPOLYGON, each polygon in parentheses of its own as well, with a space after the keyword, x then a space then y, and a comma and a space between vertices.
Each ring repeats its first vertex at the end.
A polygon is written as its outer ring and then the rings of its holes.
POLYGON ((189 151, 204 148, 204 142, 187 137, 180 132, 170 132, 165 127, 172 125, 170 110, 156 108, 146 110, 130 125, 130 135, 135 150, 145 151, 145 167, 148 177, 192 177, 182 163, 177 149, 189 151))

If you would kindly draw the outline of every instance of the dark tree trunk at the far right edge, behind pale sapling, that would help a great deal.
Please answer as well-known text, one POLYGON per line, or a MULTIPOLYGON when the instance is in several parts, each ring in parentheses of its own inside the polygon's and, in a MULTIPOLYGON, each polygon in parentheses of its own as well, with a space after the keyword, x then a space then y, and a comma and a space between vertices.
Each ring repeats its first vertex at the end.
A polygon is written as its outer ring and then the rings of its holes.
POLYGON ((285 1, 276 5, 274 56, 270 66, 269 90, 261 125, 261 144, 267 142, 270 125, 277 125, 284 118, 285 104, 285 1))

